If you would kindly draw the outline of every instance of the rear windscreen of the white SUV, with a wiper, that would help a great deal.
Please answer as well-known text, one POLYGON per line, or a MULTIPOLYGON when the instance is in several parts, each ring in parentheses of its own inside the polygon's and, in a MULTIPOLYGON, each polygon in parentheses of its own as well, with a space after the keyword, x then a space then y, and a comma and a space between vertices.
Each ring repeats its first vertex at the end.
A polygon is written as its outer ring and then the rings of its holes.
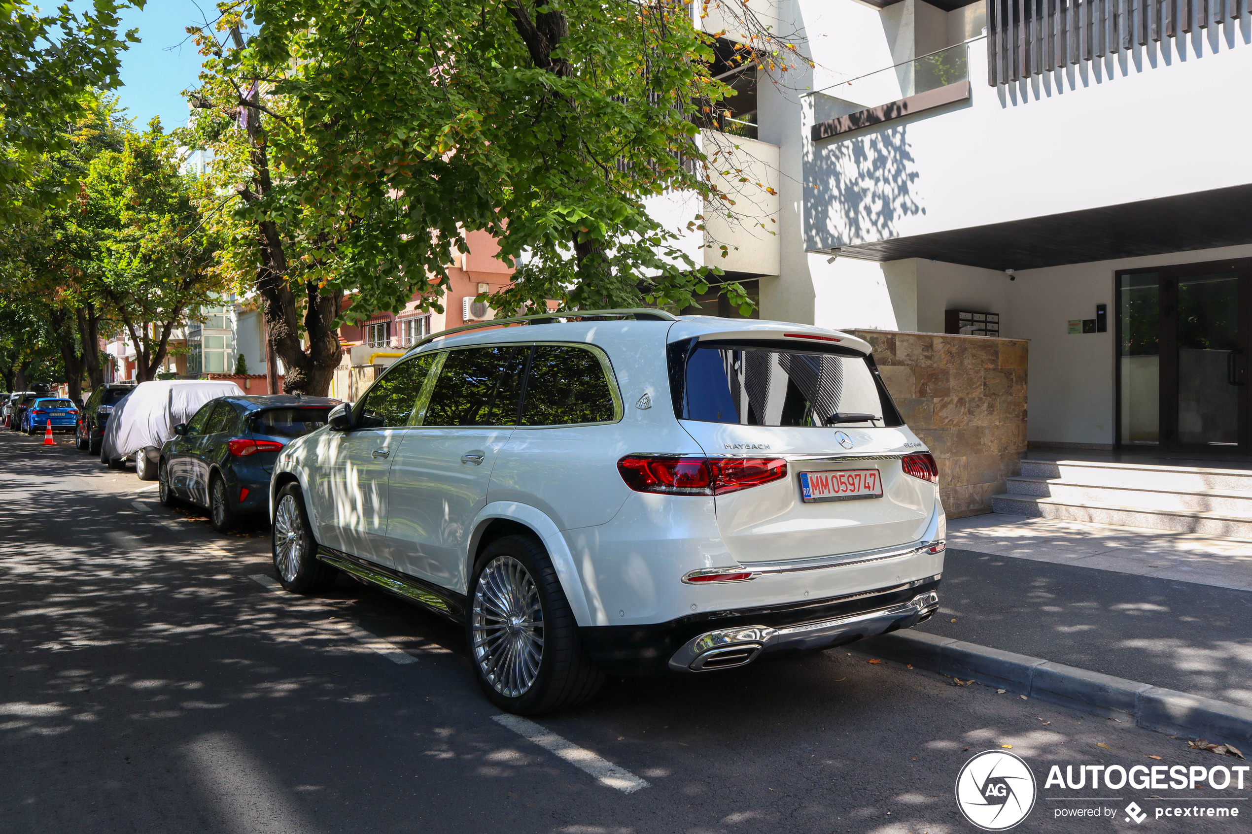
POLYGON ((901 425, 866 356, 700 343, 682 374, 681 416, 762 426, 901 425))

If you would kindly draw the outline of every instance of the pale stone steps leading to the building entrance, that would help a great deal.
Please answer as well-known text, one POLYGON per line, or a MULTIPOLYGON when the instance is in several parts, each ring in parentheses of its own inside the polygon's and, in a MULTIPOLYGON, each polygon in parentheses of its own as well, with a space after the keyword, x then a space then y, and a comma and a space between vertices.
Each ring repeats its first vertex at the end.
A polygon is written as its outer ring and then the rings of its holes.
POLYGON ((1012 515, 1252 538, 1252 471, 1023 460, 992 509, 1012 515))

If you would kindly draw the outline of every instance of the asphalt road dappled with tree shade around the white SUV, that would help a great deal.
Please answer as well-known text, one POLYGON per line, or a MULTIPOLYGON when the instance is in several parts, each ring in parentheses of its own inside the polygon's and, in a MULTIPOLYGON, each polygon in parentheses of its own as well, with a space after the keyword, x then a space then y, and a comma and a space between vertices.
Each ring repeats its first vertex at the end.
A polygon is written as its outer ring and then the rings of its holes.
POLYGON ((347 580, 317 599, 275 593, 250 578, 273 575, 264 528, 219 536, 151 491, 136 509, 148 484, 61 444, 0 434, 6 833, 950 834, 977 830, 954 800, 960 766, 1002 745, 1039 784, 1017 831, 1138 830, 1128 801, 1152 814, 1179 796, 1244 813, 1144 826, 1248 826, 1252 779, 1044 789, 1053 764, 1233 759, 845 650, 613 680, 538 719, 576 745, 568 758, 649 783, 623 793, 495 720, 459 629, 347 580), (1098 805, 1117 813, 1055 816, 1098 805))

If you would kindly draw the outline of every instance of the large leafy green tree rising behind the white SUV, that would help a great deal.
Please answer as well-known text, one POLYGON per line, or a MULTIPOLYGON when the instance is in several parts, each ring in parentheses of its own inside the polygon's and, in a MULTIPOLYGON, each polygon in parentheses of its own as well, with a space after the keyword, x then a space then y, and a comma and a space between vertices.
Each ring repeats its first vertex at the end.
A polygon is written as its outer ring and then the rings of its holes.
MULTIPOLYGON (((710 78, 712 39, 689 8, 219 9, 217 31, 195 30, 205 63, 187 141, 213 151, 215 178, 233 193, 224 269, 250 278, 264 300, 287 390, 326 391, 341 320, 398 310, 414 290, 438 306, 466 230, 495 235, 508 264, 531 255, 492 299, 497 309, 550 298, 570 309, 685 305, 707 289, 710 270, 642 203, 670 189, 725 198, 695 138, 730 90, 710 78)), ((745 28, 767 38, 759 23, 745 28)))

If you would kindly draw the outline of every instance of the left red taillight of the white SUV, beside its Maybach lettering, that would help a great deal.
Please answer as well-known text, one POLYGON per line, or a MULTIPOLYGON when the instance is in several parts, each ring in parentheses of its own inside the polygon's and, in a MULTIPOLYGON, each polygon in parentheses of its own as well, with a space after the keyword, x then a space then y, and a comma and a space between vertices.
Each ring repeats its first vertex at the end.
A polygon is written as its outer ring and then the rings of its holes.
POLYGON ((617 461, 617 471, 636 493, 724 495, 786 478, 786 461, 776 458, 626 455, 617 461))

